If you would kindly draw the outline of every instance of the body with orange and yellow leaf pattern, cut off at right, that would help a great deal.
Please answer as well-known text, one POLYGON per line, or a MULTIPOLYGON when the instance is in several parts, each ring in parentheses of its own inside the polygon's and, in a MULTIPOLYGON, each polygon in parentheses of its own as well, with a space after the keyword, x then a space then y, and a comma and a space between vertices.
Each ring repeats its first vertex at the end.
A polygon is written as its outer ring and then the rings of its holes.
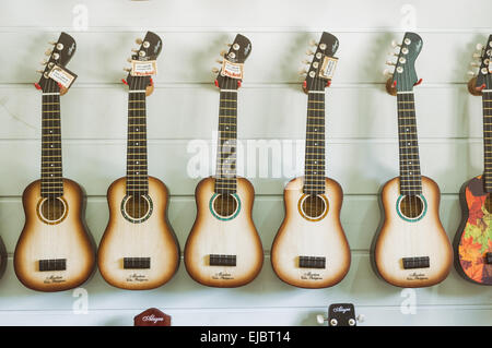
POLYGON ((459 194, 461 224, 455 236, 455 264, 459 274, 476 284, 492 285, 492 202, 482 176, 466 182, 459 194))

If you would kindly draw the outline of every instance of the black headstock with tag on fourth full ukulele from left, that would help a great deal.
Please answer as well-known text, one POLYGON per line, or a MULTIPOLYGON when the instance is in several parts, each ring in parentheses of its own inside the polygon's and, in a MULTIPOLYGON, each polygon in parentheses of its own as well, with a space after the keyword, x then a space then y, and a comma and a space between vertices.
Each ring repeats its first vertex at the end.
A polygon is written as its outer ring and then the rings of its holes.
POLYGON ((316 46, 316 51, 307 50, 306 55, 312 55, 313 60, 304 61, 309 64, 308 69, 302 73, 306 74, 303 88, 304 92, 325 91, 325 87, 331 83, 331 76, 337 65, 338 58, 335 58, 339 43, 338 38, 330 33, 323 33, 319 43, 312 41, 312 46, 316 46))

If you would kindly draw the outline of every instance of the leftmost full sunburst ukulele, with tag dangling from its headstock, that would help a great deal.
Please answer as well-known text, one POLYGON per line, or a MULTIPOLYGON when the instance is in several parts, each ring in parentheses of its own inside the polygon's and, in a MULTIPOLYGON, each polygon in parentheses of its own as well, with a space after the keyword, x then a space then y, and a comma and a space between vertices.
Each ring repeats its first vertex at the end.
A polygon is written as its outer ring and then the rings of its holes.
POLYGON ((42 97, 40 180, 24 190, 25 224, 14 252, 15 274, 27 288, 61 291, 87 280, 95 252, 84 223, 85 195, 74 181, 62 177, 60 95, 67 88, 56 82, 57 72, 75 52, 73 38, 61 33, 36 87, 42 97), (55 74, 55 75, 54 75, 55 74))

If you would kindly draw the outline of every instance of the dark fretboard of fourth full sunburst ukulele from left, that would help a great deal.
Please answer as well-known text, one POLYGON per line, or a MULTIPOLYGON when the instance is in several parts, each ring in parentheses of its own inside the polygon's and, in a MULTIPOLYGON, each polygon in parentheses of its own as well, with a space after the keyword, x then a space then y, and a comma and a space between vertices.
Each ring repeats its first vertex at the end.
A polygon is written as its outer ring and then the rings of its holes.
POLYGON ((325 193, 325 85, 307 94, 304 193, 325 193))

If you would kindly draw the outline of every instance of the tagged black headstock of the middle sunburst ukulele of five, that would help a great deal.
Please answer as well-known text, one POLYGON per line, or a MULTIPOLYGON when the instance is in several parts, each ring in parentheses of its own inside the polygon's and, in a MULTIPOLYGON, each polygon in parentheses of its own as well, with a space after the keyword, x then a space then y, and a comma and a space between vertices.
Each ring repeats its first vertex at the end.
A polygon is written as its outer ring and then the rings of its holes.
POLYGON ((223 50, 223 60, 218 59, 222 64, 221 69, 212 69, 216 73, 215 85, 221 89, 237 89, 243 80, 243 64, 251 52, 251 41, 241 34, 234 38, 234 43, 229 44, 229 51, 223 50))

